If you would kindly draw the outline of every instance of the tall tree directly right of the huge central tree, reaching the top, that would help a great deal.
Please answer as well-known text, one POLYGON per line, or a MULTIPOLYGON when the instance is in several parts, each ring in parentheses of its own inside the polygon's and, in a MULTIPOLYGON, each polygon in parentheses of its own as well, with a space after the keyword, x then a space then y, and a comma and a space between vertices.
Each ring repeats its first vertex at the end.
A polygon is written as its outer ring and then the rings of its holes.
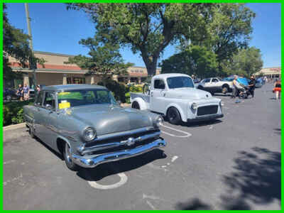
POLYGON ((223 60, 229 60, 240 48, 248 46, 255 16, 244 4, 217 4, 212 9, 212 18, 207 24, 209 40, 204 45, 217 55, 219 68, 223 60))

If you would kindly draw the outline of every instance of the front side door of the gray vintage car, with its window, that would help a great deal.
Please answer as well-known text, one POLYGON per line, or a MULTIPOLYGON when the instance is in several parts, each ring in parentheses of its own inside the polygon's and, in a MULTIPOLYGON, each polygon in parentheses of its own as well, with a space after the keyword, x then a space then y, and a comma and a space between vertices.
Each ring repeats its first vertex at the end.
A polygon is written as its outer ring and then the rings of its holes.
POLYGON ((51 148, 56 148, 58 114, 55 92, 45 91, 43 108, 40 110, 42 140, 51 148))

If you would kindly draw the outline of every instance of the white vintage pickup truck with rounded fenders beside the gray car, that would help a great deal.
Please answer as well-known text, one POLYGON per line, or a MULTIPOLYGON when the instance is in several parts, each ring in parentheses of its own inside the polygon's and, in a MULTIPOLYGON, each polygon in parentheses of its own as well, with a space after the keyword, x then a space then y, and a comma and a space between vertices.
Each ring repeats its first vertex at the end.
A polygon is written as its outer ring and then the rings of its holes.
POLYGON ((181 121, 207 121, 222 114, 222 101, 209 92, 196 89, 189 75, 155 75, 148 94, 131 93, 131 107, 166 116, 171 124, 181 121))

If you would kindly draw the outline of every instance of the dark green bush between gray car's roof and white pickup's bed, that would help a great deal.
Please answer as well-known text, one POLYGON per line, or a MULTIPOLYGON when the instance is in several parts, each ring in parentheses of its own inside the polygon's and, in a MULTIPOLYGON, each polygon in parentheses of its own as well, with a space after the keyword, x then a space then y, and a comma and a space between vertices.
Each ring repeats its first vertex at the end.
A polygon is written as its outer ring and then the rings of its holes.
POLYGON ((105 84, 105 87, 109 89, 109 91, 113 92, 114 98, 116 100, 121 101, 122 103, 126 102, 126 87, 124 84, 119 84, 118 82, 114 80, 106 80, 106 82, 99 82, 98 85, 103 86, 105 84))

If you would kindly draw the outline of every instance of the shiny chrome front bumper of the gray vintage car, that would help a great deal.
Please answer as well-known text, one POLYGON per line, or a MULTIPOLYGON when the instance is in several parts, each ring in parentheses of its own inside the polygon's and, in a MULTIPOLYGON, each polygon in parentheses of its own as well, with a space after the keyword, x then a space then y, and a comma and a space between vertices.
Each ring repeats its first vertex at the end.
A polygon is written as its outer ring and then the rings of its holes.
POLYGON ((72 160, 77 165, 80 165, 83 168, 94 168, 101 163, 107 163, 110 161, 121 160, 124 158, 131 158, 136 155, 141 155, 148 151, 151 151, 155 148, 162 148, 166 146, 166 142, 163 138, 159 138, 151 143, 147 143, 146 145, 139 146, 136 148, 124 150, 124 151, 117 151, 114 153, 105 153, 102 155, 96 155, 92 158, 92 155, 88 156, 80 156, 72 154, 72 160))

